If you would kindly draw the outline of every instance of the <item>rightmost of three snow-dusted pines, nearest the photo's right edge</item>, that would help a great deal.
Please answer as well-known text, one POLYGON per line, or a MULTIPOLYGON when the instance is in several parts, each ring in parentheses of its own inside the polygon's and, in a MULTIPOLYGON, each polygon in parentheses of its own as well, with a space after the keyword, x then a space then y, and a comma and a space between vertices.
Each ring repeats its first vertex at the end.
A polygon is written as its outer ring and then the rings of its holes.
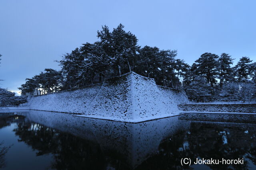
POLYGON ((236 78, 240 81, 245 81, 250 77, 250 63, 252 60, 250 60, 249 57, 242 57, 236 66, 234 67, 236 78))

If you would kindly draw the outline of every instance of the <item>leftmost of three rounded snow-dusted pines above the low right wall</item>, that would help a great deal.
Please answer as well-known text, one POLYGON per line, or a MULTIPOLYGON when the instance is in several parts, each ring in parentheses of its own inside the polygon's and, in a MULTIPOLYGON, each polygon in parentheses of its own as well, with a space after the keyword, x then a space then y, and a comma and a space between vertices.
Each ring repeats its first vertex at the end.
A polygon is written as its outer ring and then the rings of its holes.
POLYGON ((195 62, 197 63, 196 74, 204 76, 213 87, 217 83, 218 55, 204 53, 195 62))

